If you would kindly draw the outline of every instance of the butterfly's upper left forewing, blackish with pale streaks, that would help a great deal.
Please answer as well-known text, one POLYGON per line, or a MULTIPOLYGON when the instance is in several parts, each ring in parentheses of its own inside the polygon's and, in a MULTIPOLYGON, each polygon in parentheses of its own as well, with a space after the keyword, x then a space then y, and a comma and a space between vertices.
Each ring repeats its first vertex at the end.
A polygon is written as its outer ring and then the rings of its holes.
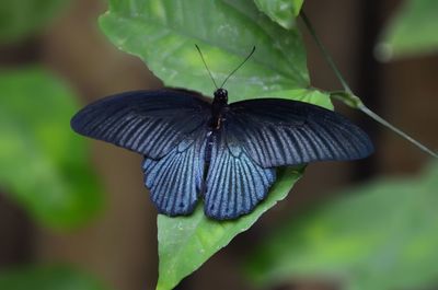
POLYGON ((80 111, 74 131, 151 159, 160 159, 203 127, 207 102, 180 91, 135 91, 105 97, 80 111))

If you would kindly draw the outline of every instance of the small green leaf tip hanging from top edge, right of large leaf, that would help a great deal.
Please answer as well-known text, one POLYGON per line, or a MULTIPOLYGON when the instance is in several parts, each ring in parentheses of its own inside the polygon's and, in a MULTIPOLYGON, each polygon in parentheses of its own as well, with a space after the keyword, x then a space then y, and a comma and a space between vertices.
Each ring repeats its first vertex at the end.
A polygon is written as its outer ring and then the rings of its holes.
POLYGON ((304 0, 254 0, 255 4, 273 21, 290 30, 296 26, 296 18, 304 0))

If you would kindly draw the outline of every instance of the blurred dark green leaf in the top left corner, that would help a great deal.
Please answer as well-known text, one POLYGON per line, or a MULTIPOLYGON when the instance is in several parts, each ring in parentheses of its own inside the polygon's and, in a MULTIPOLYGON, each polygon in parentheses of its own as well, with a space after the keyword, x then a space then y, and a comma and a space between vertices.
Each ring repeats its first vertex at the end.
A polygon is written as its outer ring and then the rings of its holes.
POLYGON ((13 43, 44 28, 69 0, 0 1, 0 43, 13 43))

